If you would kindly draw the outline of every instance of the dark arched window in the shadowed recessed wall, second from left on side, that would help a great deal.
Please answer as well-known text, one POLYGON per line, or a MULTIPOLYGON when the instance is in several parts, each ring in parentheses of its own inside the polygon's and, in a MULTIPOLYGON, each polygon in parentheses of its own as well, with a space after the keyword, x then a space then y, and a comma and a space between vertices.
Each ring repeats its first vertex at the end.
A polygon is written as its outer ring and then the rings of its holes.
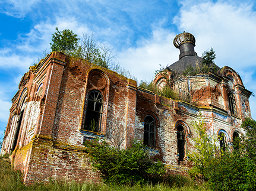
POLYGON ((147 115, 144 119, 143 144, 147 145, 150 148, 156 147, 156 122, 151 115, 147 115))

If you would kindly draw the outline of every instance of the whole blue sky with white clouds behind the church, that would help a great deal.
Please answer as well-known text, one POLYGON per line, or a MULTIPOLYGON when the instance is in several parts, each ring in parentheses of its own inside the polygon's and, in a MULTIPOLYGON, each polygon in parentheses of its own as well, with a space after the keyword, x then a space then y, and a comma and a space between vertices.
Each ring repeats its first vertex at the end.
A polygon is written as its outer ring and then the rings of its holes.
MULTIPOLYGON (((0 0, 0 21, 0 134, 21 77, 50 51, 56 27, 94 33, 139 81, 152 80, 159 64, 178 60, 172 41, 186 31, 195 36, 198 56, 212 47, 215 63, 235 69, 245 88, 256 92, 255 1, 0 0)), ((255 104, 251 97, 254 119, 255 104)))

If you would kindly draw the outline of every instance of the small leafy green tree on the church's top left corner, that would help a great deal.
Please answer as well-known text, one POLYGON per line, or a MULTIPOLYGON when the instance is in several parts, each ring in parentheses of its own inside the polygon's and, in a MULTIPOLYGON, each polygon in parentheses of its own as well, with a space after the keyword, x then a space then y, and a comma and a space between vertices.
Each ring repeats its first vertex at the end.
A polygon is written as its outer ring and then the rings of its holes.
POLYGON ((77 34, 74 34, 69 29, 64 29, 59 31, 56 27, 56 32, 52 34, 52 43, 50 43, 50 48, 52 51, 63 51, 64 53, 71 53, 78 46, 77 34))

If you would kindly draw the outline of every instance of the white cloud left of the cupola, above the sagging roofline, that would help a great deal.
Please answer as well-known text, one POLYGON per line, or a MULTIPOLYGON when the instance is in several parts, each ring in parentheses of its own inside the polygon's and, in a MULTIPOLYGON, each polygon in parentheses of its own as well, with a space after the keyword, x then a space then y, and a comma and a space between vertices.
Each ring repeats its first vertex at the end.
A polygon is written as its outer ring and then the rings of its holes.
POLYGON ((119 52, 117 60, 138 80, 152 80, 159 64, 169 66, 178 60, 179 50, 173 46, 174 37, 174 33, 162 28, 154 30, 150 39, 140 40, 137 47, 119 52))

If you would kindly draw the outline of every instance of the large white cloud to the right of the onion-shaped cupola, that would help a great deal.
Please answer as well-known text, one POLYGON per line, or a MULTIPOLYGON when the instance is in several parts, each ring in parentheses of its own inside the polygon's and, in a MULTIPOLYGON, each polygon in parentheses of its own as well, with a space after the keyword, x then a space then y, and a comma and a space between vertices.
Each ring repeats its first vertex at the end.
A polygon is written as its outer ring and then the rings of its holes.
POLYGON ((217 64, 239 69, 256 62, 255 20, 252 5, 204 2, 182 8, 175 24, 195 35, 198 53, 213 47, 217 64))

